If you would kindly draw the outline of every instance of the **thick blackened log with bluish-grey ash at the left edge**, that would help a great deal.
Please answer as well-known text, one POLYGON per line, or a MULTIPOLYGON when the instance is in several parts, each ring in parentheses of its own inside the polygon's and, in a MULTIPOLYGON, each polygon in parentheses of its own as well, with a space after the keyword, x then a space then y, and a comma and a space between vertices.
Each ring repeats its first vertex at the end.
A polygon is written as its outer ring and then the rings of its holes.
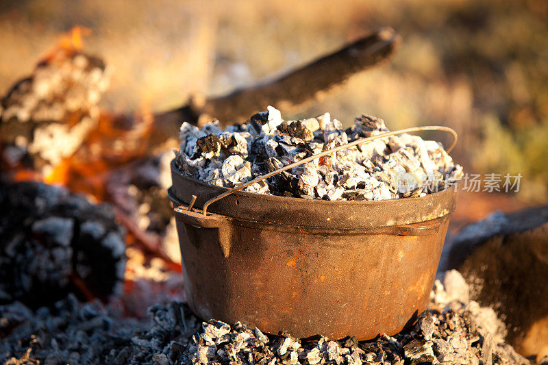
POLYGON ((121 290, 123 229, 110 205, 36 182, 0 183, 0 303, 49 305, 121 290))

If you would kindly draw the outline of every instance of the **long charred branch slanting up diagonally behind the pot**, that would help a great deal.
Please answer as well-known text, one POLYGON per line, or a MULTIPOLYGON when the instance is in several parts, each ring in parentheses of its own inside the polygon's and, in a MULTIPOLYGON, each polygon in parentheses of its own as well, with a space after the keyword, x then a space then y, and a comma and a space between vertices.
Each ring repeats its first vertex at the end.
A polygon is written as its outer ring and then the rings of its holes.
POLYGON ((204 120, 201 118, 204 114, 219 119, 221 126, 226 126, 245 121, 247 116, 264 110, 266 105, 273 105, 282 112, 295 111, 321 92, 328 92, 352 75, 388 60, 400 41, 394 29, 385 27, 274 81, 158 114, 151 142, 158 144, 173 138, 183 121, 198 125, 204 120))

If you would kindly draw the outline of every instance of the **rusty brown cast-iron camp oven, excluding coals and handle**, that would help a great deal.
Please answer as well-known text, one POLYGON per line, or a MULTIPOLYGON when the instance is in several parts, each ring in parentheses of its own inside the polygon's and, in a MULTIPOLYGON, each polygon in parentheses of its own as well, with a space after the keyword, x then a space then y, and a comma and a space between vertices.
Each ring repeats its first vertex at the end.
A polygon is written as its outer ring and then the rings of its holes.
POLYGON ((227 323, 239 320, 268 333, 288 331, 301 338, 319 333, 332 339, 350 335, 368 340, 378 333, 398 333, 425 309, 456 191, 432 194, 439 194, 436 199, 443 209, 433 217, 432 211, 421 214, 419 203, 415 221, 406 218, 406 224, 379 225, 379 216, 362 217, 362 221, 353 216, 351 225, 343 224, 363 206, 376 205, 371 210, 378 210, 379 203, 386 205, 384 220, 397 222, 402 214, 391 208, 395 200, 355 202, 363 205, 359 209, 350 209, 352 202, 321 201, 318 212, 315 201, 307 201, 309 212, 299 207, 303 216, 297 218, 299 224, 292 225, 295 219, 288 212, 291 209, 284 212, 284 205, 304 199, 238 192, 240 201, 251 199, 253 206, 237 203, 231 207, 233 212, 220 214, 216 211, 223 206, 215 209, 212 205, 213 213, 203 216, 186 210, 188 200, 180 193, 197 185, 205 184, 173 171, 169 193, 186 298, 201 318, 227 323), (275 199, 265 201, 264 197, 275 199), (276 205, 277 199, 282 203, 276 205), (339 207, 343 203, 343 209, 338 216, 322 217, 325 203, 339 207), (253 219, 253 212, 264 214, 255 214, 253 219), (310 221, 303 224, 306 214, 310 221), (274 219, 277 216, 284 218, 274 219))

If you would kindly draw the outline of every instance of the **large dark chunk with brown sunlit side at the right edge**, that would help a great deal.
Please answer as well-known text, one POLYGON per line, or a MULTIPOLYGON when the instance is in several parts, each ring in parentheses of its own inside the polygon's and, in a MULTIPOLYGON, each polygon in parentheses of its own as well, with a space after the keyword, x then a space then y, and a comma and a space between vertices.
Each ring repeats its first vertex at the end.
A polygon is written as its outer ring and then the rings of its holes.
POLYGON ((464 227, 447 242, 445 268, 457 268, 471 299, 496 303, 508 343, 525 355, 548 349, 548 205, 503 214, 464 227))

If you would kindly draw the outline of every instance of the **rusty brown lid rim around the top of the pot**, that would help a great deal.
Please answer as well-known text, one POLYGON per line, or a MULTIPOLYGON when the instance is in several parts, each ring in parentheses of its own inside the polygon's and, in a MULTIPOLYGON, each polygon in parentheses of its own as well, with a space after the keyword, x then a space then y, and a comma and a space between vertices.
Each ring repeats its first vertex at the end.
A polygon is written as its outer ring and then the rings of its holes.
MULTIPOLYGON (((195 207, 201 208, 209 199, 230 190, 188 177, 175 166, 175 158, 171 161, 171 177, 175 197, 188 205, 192 195, 196 195, 195 207)), ((240 190, 212 203, 208 211, 265 223, 292 221, 294 225, 306 225, 310 219, 320 219, 334 227, 407 225, 451 214, 455 209, 457 190, 457 187, 451 186, 424 197, 379 201, 326 201, 240 190)))

